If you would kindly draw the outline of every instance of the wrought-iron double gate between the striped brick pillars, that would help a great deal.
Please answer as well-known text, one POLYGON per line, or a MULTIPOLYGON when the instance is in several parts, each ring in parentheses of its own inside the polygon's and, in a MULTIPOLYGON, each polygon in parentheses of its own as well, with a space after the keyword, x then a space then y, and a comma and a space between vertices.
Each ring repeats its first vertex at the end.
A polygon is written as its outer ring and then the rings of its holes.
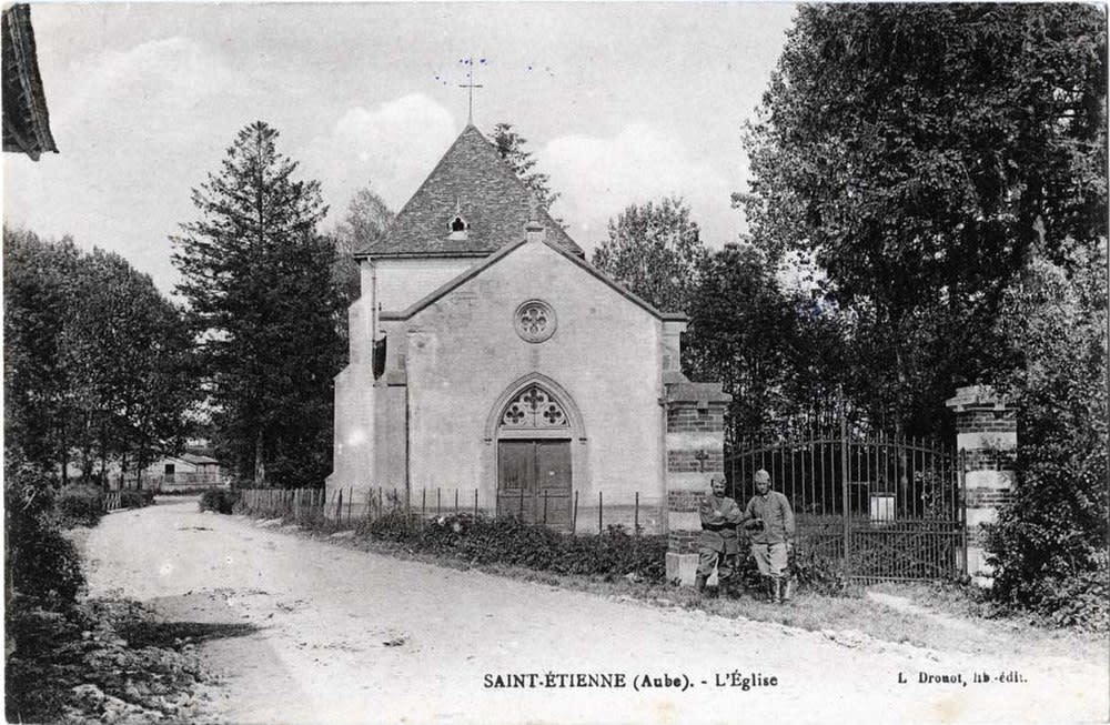
POLYGON ((840 431, 749 442, 726 456, 743 507, 753 475, 789 499, 799 554, 839 562, 854 581, 945 580, 967 571, 962 466, 925 439, 840 431))

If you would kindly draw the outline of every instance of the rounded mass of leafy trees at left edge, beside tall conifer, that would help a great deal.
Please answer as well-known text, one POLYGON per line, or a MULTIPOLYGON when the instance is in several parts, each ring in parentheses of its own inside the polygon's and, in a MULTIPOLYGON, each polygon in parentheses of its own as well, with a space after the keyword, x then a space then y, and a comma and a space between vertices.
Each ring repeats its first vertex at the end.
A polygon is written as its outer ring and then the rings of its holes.
POLYGON ((6 447, 40 469, 142 467, 195 397, 181 312, 117 254, 4 230, 6 447))

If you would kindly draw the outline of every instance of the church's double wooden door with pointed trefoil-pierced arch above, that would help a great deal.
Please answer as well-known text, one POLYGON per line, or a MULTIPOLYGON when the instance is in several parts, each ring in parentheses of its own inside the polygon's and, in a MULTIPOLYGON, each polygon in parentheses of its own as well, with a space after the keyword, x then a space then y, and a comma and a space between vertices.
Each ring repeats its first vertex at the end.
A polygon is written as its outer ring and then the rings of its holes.
POLYGON ((497 513, 571 524, 571 423, 563 404, 532 384, 505 406, 497 427, 497 513))

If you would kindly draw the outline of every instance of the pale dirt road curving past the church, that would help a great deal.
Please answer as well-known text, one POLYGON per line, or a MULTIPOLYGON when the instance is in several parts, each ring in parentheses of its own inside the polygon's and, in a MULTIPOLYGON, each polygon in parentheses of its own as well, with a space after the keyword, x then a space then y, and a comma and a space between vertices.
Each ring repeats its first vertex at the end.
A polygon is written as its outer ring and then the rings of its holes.
POLYGON ((107 516, 87 551, 93 595, 258 627, 201 648, 229 674, 216 706, 234 723, 1071 723, 1108 709, 1104 662, 836 642, 366 554, 192 500, 107 516), (761 684, 733 686, 737 672, 761 684), (971 683, 979 672, 991 682, 971 683), (566 686, 579 673, 624 686, 566 686), (498 676, 537 686, 486 686, 498 676))

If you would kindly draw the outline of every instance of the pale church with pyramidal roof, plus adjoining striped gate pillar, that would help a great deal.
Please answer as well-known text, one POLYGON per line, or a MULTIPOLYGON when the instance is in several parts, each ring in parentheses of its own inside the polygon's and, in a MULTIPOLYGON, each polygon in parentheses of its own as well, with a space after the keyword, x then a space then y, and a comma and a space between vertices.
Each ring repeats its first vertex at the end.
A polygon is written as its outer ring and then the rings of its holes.
POLYGON ((698 528, 728 396, 683 376, 685 315, 591 265, 473 124, 356 259, 331 492, 698 528))

